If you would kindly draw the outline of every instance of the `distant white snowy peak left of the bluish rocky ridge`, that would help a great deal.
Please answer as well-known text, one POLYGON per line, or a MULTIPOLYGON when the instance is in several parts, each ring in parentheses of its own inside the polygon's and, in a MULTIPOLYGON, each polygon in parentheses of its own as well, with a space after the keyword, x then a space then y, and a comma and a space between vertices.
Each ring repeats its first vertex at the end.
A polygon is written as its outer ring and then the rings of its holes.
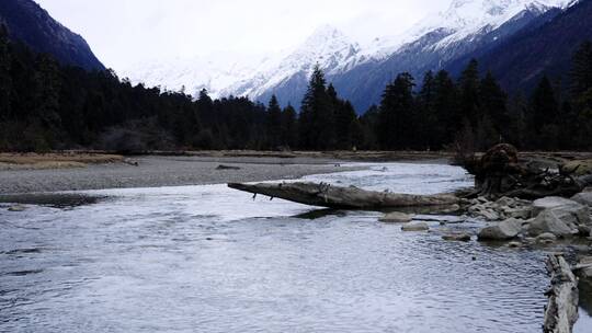
POLYGON ((291 51, 249 57, 215 54, 208 57, 140 64, 121 76, 133 82, 160 85, 194 94, 206 89, 210 96, 248 95, 259 97, 296 74, 305 77, 316 64, 331 72, 360 51, 360 46, 337 28, 317 28, 304 44, 291 51))

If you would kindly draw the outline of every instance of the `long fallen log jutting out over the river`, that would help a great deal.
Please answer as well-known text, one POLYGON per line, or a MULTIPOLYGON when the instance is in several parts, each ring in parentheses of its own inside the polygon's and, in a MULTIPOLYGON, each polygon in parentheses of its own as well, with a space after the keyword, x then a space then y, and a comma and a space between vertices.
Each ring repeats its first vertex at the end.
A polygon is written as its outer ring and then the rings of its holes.
POLYGON ((304 205, 334 209, 384 209, 401 207, 428 207, 459 204, 454 195, 412 195, 365 191, 355 186, 340 187, 316 183, 260 183, 228 184, 228 187, 277 197, 304 205))

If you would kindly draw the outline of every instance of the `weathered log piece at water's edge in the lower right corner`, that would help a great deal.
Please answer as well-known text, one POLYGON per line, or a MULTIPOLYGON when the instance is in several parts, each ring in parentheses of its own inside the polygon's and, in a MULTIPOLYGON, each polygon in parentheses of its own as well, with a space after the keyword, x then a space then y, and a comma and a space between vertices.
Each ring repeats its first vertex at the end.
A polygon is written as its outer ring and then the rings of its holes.
POLYGON ((578 320, 578 279, 561 255, 547 257, 551 287, 546 292, 549 301, 545 308, 543 332, 571 333, 578 320))

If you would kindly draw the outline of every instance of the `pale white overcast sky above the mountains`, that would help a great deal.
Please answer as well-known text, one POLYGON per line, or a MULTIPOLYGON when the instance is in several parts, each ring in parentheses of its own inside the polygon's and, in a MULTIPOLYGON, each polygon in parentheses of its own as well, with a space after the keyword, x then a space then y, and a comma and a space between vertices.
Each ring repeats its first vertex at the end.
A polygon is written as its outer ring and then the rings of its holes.
POLYGON ((36 0, 105 66, 218 51, 261 54, 330 24, 365 43, 397 35, 451 0, 36 0))

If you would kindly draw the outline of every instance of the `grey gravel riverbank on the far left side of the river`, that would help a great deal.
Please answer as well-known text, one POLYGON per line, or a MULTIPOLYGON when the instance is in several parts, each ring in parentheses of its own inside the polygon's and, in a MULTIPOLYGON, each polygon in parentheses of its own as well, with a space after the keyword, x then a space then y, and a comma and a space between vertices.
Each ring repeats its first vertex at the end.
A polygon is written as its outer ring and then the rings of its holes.
POLYGON ((146 156, 132 161, 137 166, 118 162, 86 168, 0 170, 0 194, 260 182, 352 169, 340 166, 337 160, 316 158, 146 156), (219 170, 220 164, 234 168, 219 170))

